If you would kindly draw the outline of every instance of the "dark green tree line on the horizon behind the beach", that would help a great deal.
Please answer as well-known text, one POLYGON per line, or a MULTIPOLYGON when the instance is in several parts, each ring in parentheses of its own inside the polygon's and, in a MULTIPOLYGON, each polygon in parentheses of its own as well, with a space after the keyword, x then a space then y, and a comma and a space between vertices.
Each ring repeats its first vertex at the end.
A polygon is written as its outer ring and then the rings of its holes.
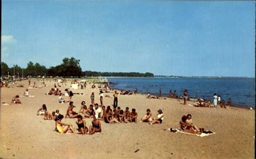
POLYGON ((39 63, 32 63, 29 61, 26 68, 22 68, 18 65, 14 65, 9 67, 6 63, 1 62, 1 76, 11 77, 14 75, 17 77, 37 77, 46 75, 47 77, 153 77, 154 74, 150 72, 146 73, 139 73, 139 72, 96 72, 96 71, 82 71, 82 68, 79 65, 80 60, 77 60, 73 57, 71 58, 64 58, 62 60, 62 64, 57 66, 51 66, 50 68, 46 68, 39 63))

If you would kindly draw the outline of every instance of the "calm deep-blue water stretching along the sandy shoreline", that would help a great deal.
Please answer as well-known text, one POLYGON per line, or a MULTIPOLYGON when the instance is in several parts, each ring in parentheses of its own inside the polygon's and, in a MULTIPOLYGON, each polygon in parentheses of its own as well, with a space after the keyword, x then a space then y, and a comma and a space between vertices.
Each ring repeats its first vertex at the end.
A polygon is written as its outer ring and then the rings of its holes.
POLYGON ((107 78, 113 82, 113 88, 139 93, 159 94, 168 96, 170 89, 176 90, 177 95, 183 95, 184 89, 188 90, 191 98, 211 98, 214 93, 221 96, 227 103, 232 99, 234 105, 255 107, 254 78, 107 78))

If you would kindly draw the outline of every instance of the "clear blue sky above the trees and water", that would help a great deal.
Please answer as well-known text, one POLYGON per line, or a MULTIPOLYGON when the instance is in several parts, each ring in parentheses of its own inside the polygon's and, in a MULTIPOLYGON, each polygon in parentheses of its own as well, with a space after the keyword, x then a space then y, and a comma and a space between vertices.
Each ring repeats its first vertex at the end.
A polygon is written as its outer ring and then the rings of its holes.
POLYGON ((2 1, 9 66, 254 77, 254 2, 2 1))

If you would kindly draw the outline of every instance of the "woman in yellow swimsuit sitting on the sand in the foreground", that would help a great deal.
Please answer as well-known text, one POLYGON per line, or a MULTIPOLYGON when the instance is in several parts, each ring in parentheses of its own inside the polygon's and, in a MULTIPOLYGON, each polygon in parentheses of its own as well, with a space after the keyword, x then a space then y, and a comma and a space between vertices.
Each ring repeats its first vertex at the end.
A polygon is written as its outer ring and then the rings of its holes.
POLYGON ((79 134, 79 132, 75 131, 71 124, 63 123, 63 115, 58 115, 58 117, 55 119, 55 131, 60 134, 66 134, 66 133, 76 133, 79 134), (64 126, 64 127, 63 127, 64 126))

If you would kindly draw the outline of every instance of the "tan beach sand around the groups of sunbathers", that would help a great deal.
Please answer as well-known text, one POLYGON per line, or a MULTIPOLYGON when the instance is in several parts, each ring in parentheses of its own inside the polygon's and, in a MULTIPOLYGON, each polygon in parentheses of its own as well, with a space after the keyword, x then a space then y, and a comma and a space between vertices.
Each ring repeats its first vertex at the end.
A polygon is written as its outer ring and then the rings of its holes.
MULTIPOLYGON (((31 84, 36 79, 31 80, 31 84)), ((1 103, 10 103, 15 95, 22 95, 28 80, 18 81, 24 87, 2 88, 1 103)), ((163 124, 147 123, 102 123, 102 133, 93 135, 59 134, 54 132, 55 122, 43 120, 36 112, 46 104, 48 112, 60 110, 65 115, 68 103, 57 103, 58 96, 45 95, 48 87, 29 89, 33 98, 20 98, 22 104, 1 105, 1 144, 0 157, 3 158, 254 158, 255 110, 200 108, 184 106, 177 99, 147 99, 143 94, 118 95, 118 106, 122 109, 136 108, 138 119, 150 108, 157 115, 161 108, 164 113, 163 124), (179 128, 181 116, 192 114, 194 125, 211 130, 216 134, 206 137, 167 132, 164 129, 179 128), (139 149, 139 150, 138 150, 139 149), (138 150, 137 152, 134 152, 138 150)), ((60 87, 64 92, 67 86, 60 87)), ((97 85, 96 85, 97 86, 97 85)), ((95 92, 95 101, 99 103, 99 89, 72 90, 72 101, 80 109, 84 100, 90 105, 91 92, 95 92)), ((104 95, 113 93, 104 93, 104 95)), ((68 100, 68 97, 64 96, 68 100)), ((188 102, 190 103, 190 102, 188 102)), ((104 105, 112 108, 113 98, 104 97, 104 105)), ((77 128, 76 119, 63 119, 77 128)), ((86 119, 86 126, 91 119, 86 119)))

